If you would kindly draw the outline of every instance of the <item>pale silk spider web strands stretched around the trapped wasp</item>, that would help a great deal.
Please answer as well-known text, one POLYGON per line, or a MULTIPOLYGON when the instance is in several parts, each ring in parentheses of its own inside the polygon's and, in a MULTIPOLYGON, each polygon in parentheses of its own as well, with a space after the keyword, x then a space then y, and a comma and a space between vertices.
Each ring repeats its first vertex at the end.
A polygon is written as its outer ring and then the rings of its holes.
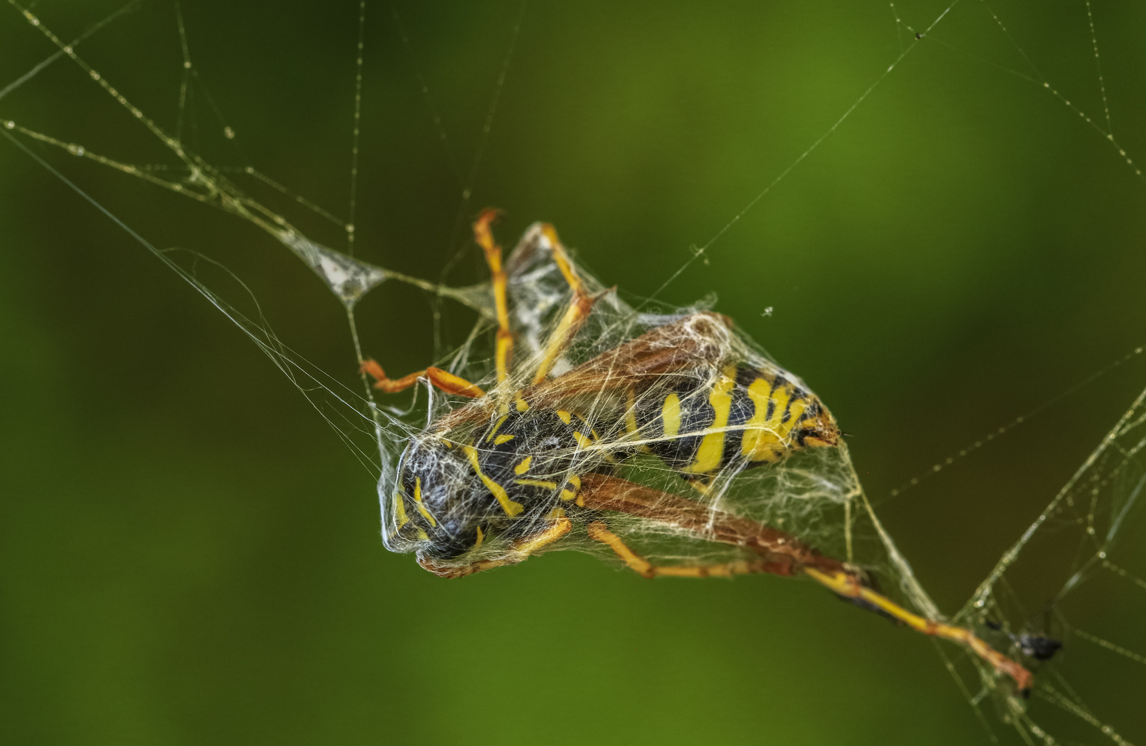
MULTIPOLYGON (((62 151, 87 159, 170 190, 180 197, 222 210, 268 234, 309 268, 342 304, 358 359, 362 359, 364 354, 359 343, 355 311, 366 297, 379 292, 379 289, 406 284, 430 293, 433 298, 434 319, 439 323, 452 313, 449 304, 460 304, 477 316, 477 322, 463 344, 439 345, 437 364, 470 379, 489 384, 494 321, 488 283, 455 286, 445 281, 414 277, 355 257, 355 211, 361 202, 356 175, 366 50, 361 29, 364 28, 363 22, 368 11, 364 3, 359 7, 360 36, 355 65, 351 166, 353 178, 347 218, 336 217, 308 197, 297 195, 280 184, 254 166, 218 165, 225 160, 204 155, 206 148, 199 151, 187 144, 187 112, 195 91, 202 91, 201 96, 206 102, 206 108, 218 116, 220 123, 218 129, 222 139, 234 140, 235 131, 223 123, 222 113, 199 84, 198 71, 190 54, 190 45, 178 6, 174 21, 179 30, 182 68, 178 117, 174 126, 171 126, 160 124, 143 108, 136 107, 132 97, 118 88, 115 80, 110 80, 104 72, 94 66, 83 53, 84 45, 89 38, 124 13, 134 9, 135 3, 125 6, 87 30, 72 32, 74 36, 71 37, 58 36, 55 29, 61 24, 41 18, 39 15, 41 11, 23 8, 11 0, 9 5, 23 16, 31 32, 42 34, 54 49, 49 56, 0 88, 0 107, 3 105, 3 99, 15 92, 24 93, 34 88, 38 76, 54 64, 70 64, 70 70, 73 72, 78 70, 86 76, 91 81, 89 85, 94 86, 101 96, 119 108, 123 118, 128 123, 134 120, 135 126, 142 127, 142 131, 148 133, 151 138, 148 147, 157 147, 157 150, 141 157, 157 159, 162 157, 166 165, 141 165, 142 162, 138 160, 134 154, 108 155, 86 141, 53 134, 42 123, 25 124, 0 117, 0 126, 17 148, 25 150, 45 168, 69 186, 73 186, 83 197, 117 222, 119 220, 105 210, 101 202, 88 197, 79 186, 73 184, 69 176, 69 167, 58 165, 60 160, 55 157, 55 152, 62 151), (37 148, 37 146, 42 147, 37 148), (241 180, 246 182, 241 186, 241 180), (289 207, 272 207, 268 199, 251 196, 246 183, 269 188, 293 204, 289 207), (304 217, 289 219, 286 215, 293 214, 292 209, 301 211, 304 217), (312 221, 315 218, 342 233, 345 250, 324 245, 312 237, 311 229, 300 227, 303 221, 312 221)), ((996 38, 1010 45, 1023 61, 1023 65, 1003 65, 994 62, 989 52, 968 50, 959 44, 944 39, 942 33, 944 24, 952 14, 964 10, 966 5, 972 3, 956 2, 941 6, 926 15, 913 8, 912 15, 926 21, 909 22, 901 15, 904 13, 903 5, 896 7, 892 3, 889 9, 894 18, 900 52, 892 56, 886 70, 861 91, 855 101, 813 139, 774 180, 755 193, 731 220, 707 242, 693 246, 691 257, 674 272, 668 273, 665 282, 650 296, 636 298, 604 293, 604 299, 595 306, 590 323, 579 333, 574 345, 559 362, 558 372, 590 360, 618 344, 631 340, 668 320, 681 319, 700 308, 701 306, 674 307, 660 301, 659 298, 670 283, 693 268, 697 262, 706 262, 709 254, 719 250, 719 242, 764 201, 778 183, 837 133, 855 111, 864 107, 885 79, 895 74, 904 60, 919 54, 920 44, 925 40, 961 55, 986 58, 989 64, 1000 68, 1002 72, 1042 87, 1062 108, 1086 125, 1094 136, 1105 140, 1117 157, 1124 160, 1129 173, 1141 181, 1140 168, 1114 135, 1106 79, 1101 70, 1102 56, 1099 54, 1100 37, 1096 29, 1094 8, 1091 3, 1083 3, 1084 14, 1081 14, 1080 21, 1084 24, 1093 52, 1097 71, 1094 83, 1099 92, 1097 105, 1080 104, 1060 91, 1052 80, 1045 78, 1036 62, 1015 42, 1015 34, 1007 26, 1005 16, 997 14, 986 3, 975 5, 988 13, 997 31, 996 38)), ((46 14, 46 10, 42 13, 46 14)), ((388 15, 394 26, 399 29, 403 48, 415 57, 415 47, 406 33, 401 16, 397 10, 392 10, 388 15)), ((521 32, 523 18, 524 7, 523 15, 512 26, 510 44, 501 61, 497 85, 485 118, 484 132, 489 131, 495 119, 499 97, 504 88, 507 71, 510 70, 513 45, 517 44, 518 34, 521 32)), ((429 87, 424 79, 419 78, 419 83, 431 104, 430 110, 433 111, 429 87)), ((433 126, 445 140, 445 129, 437 116, 433 126)), ((455 238, 450 242, 455 251, 452 260, 447 262, 442 277, 466 251, 461 236, 464 235, 465 219, 472 212, 473 205, 470 201, 482 165, 485 142, 484 138, 478 141, 476 155, 470 164, 455 164, 463 189, 457 210, 455 238)), ((427 409, 430 417, 433 418, 456 408, 458 402, 440 395, 434 396, 432 391, 426 390, 401 407, 380 405, 369 387, 356 391, 293 352, 272 330, 254 300, 257 293, 248 292, 240 283, 240 291, 230 292, 225 298, 220 288, 226 283, 237 282, 226 268, 217 267, 198 253, 158 249, 148 243, 144 236, 132 230, 129 225, 120 222, 120 226, 235 321, 307 395, 336 432, 359 454, 362 462, 378 476, 379 498, 385 520, 386 507, 391 504, 391 495, 395 488, 398 473, 395 458, 401 453, 405 441, 422 430, 427 409), (419 402, 419 399, 425 396, 430 398, 429 405, 419 402)), ((519 338, 518 354, 523 370, 527 370, 531 367, 529 361, 535 362, 541 355, 543 340, 568 299, 564 281, 547 259, 542 252, 534 257, 532 264, 520 262, 515 267, 511 278, 513 324, 519 338)), ((583 269, 582 273, 594 292, 603 293, 606 290, 605 283, 596 281, 583 269)), ((740 361, 756 367, 776 366, 743 335, 733 335, 724 344, 736 351, 735 356, 740 361)), ((1135 350, 1128 354, 1128 359, 1139 353, 1140 348, 1135 350)), ((1033 518, 1027 531, 1000 557, 974 595, 951 617, 953 622, 972 628, 983 638, 990 639, 997 649, 1015 658, 1020 657, 1025 649, 1029 649, 1031 641, 1039 637, 1053 637, 1065 644, 1065 652, 1037 672, 1035 697, 1030 702, 1019 698, 1006 682, 1000 681, 999 676, 981 660, 949 647, 940 649, 944 663, 976 713, 982 716, 987 735, 991 740, 1006 739, 1014 735, 1026 743, 1109 740, 1127 744, 1140 741, 1143 738, 1140 735, 1123 732, 1123 727, 1114 718, 1118 709, 1124 713, 1124 708, 1104 707, 1108 702, 1116 701, 1117 697, 1104 689, 1108 689, 1107 683, 1096 681, 1096 670, 1104 674, 1101 678, 1116 681, 1118 686, 1129 692, 1140 689, 1144 673, 1141 666, 1146 665, 1146 649, 1144 649, 1146 643, 1141 639, 1140 633, 1136 636, 1135 630, 1127 627, 1127 614, 1101 614, 1096 610, 1117 608, 1123 604, 1129 608, 1132 604, 1140 604, 1140 598, 1135 595, 1146 591, 1146 579, 1144 579, 1146 571, 1139 566, 1140 555, 1132 551, 1141 525, 1139 496, 1143 486, 1146 485, 1146 464, 1143 462, 1143 450, 1146 448, 1146 432, 1143 431, 1146 423, 1144 396, 1146 393, 1133 401, 1077 472, 1050 500, 1045 509, 1033 518), (1112 598, 1118 600, 1112 602, 1112 598), (1130 600, 1122 600, 1123 598, 1130 600), (1099 694, 1092 696, 1090 691, 1097 691, 1099 694), (999 728, 999 722, 1004 723, 1004 728, 999 728)), ((826 403, 832 405, 831 401, 826 403)), ((945 462, 936 464, 925 476, 901 485, 892 492, 892 496, 897 497, 910 492, 926 477, 943 471, 996 437, 1021 425, 1034 414, 1037 413, 1028 413, 988 437, 968 443, 945 462)), ((665 479, 675 478, 673 472, 654 462, 642 462, 636 469, 643 470, 644 473, 638 473, 636 477, 644 481, 660 480, 664 484, 665 479)), ((878 520, 872 501, 863 492, 845 446, 798 454, 775 468, 745 472, 733 470, 719 481, 719 489, 709 497, 709 504, 714 510, 730 510, 762 523, 782 526, 821 551, 862 566, 880 580, 886 591, 910 608, 931 619, 943 618, 906 559, 897 550, 892 536, 878 520)), ((618 526, 617 529, 635 540, 649 540, 645 551, 651 557, 688 562, 720 560, 730 556, 727 552, 711 550, 704 542, 692 541, 692 536, 658 527, 649 521, 634 520, 627 526, 618 526)), ((572 540, 566 545, 595 551, 603 556, 607 553, 599 545, 583 539, 572 540)), ((497 550, 494 548, 492 551, 497 550)))

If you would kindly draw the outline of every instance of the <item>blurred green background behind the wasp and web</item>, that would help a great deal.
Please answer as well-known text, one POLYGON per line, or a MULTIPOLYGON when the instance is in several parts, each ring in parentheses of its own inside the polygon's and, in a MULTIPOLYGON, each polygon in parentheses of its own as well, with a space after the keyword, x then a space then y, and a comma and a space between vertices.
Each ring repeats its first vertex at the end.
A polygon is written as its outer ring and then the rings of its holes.
MULTIPOLYGON (((34 10, 71 39, 116 7, 34 10)), ((895 6, 917 31, 947 7, 895 6)), ((1146 384, 1146 367, 1122 366, 886 500, 1146 338, 1146 186, 1077 113, 1008 72, 1035 77, 1017 42, 1105 119, 1086 6, 991 8, 1013 41, 987 6, 953 6, 660 296, 715 291, 719 311, 821 394, 947 611, 1146 384)), ((182 11, 204 86, 186 142, 345 215, 358 5, 187 0, 182 11)), ((1146 157, 1146 8, 1093 11, 1114 133, 1146 157)), ((449 280, 477 281, 458 215, 488 204, 508 211, 507 243, 552 221, 604 282, 650 295, 915 41, 878 1, 531 3, 462 207, 520 13, 367 6, 363 259, 432 278, 463 249, 449 280)), ((9 6, 0 49, 0 86, 54 50, 9 6)), ((78 50, 174 129, 172 5, 146 2, 78 50)), ((0 100, 0 119, 171 163, 65 62, 0 100)), ((340 307, 266 234, 31 147, 148 241, 234 270, 284 341, 353 383, 340 307)), ((289 201, 252 194, 344 245, 289 201)), ((371 474, 285 377, 7 141, 0 246, 5 743, 987 743, 926 639, 806 583, 646 582, 570 552, 447 582, 387 553, 371 474)), ((367 352, 394 372, 424 366, 468 320, 447 307, 435 348, 431 309, 416 291, 375 291, 359 311, 367 352)), ((1124 562, 1146 567, 1141 550, 1124 562)), ((1092 613, 1133 639, 1128 608, 1092 613)), ((1112 678, 1109 659, 1084 654, 1082 697, 1146 738, 1141 675, 1112 678)))

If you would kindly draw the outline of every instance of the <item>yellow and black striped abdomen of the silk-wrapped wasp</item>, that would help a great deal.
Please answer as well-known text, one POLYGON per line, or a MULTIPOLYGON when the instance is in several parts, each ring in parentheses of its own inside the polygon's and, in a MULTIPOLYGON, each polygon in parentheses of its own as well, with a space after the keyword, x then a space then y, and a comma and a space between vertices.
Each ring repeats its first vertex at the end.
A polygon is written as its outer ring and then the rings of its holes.
POLYGON ((806 446, 834 446, 839 429, 783 371, 727 366, 674 377, 635 395, 629 431, 685 478, 732 464, 779 461, 806 446))

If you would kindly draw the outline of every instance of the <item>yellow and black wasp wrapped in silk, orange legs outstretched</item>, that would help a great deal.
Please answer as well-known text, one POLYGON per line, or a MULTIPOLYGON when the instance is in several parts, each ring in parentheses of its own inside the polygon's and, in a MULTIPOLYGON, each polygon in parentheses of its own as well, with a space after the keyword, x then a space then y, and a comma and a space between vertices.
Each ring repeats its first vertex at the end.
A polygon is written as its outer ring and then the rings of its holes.
MULTIPOLYGON (((803 382, 752 354, 731 320, 714 312, 649 316, 635 322, 641 333, 607 320, 590 328, 595 306, 611 291, 589 292, 550 225, 532 226, 503 261, 492 229, 497 214, 486 210, 473 223, 497 324, 489 391, 441 368, 390 378, 374 360, 361 364, 382 392, 423 380, 458 402, 409 439, 382 493, 388 549, 416 551, 425 570, 444 578, 520 563, 579 539, 607 548, 645 578, 806 575, 859 606, 964 645, 1029 691, 1031 674, 971 630, 920 617, 880 594, 861 568, 719 507, 722 482, 740 472, 839 446, 835 419, 803 382), (540 272, 539 257, 567 288, 543 336, 533 332, 537 324, 515 329, 510 309, 510 278, 526 268, 540 272), (516 332, 529 337, 528 354, 517 361, 516 332), (657 479, 639 477, 650 473, 657 479), (626 540, 634 525, 739 555, 653 563, 626 540)), ((545 304, 520 298, 518 305, 528 306, 520 317, 536 321, 540 312, 528 314, 545 304)))

